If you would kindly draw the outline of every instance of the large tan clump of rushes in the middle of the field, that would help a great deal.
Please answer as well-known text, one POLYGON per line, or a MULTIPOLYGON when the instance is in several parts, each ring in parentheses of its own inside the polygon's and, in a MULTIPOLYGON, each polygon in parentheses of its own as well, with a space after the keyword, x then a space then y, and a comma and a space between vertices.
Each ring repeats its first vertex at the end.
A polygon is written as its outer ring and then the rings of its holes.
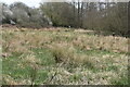
POLYGON ((65 63, 68 65, 88 65, 93 67, 95 61, 86 54, 80 54, 76 52, 74 47, 68 47, 65 45, 53 45, 51 47, 51 52, 55 58, 56 63, 65 63))

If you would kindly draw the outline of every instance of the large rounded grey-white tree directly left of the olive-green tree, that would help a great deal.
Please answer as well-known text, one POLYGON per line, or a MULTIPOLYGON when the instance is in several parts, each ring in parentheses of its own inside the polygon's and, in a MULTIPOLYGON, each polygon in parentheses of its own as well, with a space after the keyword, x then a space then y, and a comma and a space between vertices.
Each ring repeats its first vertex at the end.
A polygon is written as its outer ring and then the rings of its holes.
POLYGON ((14 2, 10 5, 13 12, 12 20, 23 27, 47 27, 51 21, 44 14, 35 8, 29 8, 25 3, 14 2))

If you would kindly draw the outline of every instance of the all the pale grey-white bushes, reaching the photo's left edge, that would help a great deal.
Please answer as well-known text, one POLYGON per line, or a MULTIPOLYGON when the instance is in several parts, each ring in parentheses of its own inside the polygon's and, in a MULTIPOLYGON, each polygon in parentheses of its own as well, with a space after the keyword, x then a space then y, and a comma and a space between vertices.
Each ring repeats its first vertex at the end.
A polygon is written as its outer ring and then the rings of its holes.
POLYGON ((2 4, 2 23, 12 24, 16 23, 20 27, 41 28, 51 26, 52 22, 49 17, 44 16, 39 9, 29 8, 22 2, 14 2, 10 7, 4 3, 2 4))

